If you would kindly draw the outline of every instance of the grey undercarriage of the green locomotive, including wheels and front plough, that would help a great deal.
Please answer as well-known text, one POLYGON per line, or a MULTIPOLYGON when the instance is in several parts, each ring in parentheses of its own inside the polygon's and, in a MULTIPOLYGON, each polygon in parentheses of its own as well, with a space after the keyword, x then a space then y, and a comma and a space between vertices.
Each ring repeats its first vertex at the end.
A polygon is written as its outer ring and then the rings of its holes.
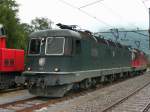
MULTIPOLYGON (((143 69, 135 70, 136 74, 143 72, 143 69)), ((76 73, 76 74, 47 74, 29 75, 29 92, 38 96, 62 97, 72 89, 87 89, 91 86, 104 82, 131 77, 133 70, 131 68, 104 70, 97 72, 76 73), (123 75, 121 75, 121 73, 123 75), (92 74, 92 75, 91 75, 92 74)), ((133 75, 132 75, 133 76, 133 75)), ((134 74, 134 76, 136 76, 134 74)))

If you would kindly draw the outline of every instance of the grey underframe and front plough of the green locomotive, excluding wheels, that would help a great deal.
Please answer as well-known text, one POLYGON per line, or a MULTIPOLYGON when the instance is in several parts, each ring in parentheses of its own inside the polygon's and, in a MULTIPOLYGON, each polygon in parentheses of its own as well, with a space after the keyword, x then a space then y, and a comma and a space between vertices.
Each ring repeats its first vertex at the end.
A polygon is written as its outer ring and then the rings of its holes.
POLYGON ((140 73, 146 67, 141 68, 113 68, 76 72, 24 72, 29 78, 29 92, 38 96, 62 97, 73 88, 76 83, 81 83, 85 79, 101 77, 99 82, 103 82, 105 77, 114 74, 140 73))

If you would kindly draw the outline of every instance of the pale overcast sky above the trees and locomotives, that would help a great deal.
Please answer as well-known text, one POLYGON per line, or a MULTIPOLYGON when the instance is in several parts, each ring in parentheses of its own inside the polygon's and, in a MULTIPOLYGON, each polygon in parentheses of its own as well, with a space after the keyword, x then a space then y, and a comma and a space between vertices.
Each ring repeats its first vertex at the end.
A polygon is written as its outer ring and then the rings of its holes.
POLYGON ((16 0, 21 22, 47 17, 92 31, 111 28, 148 29, 149 0, 16 0), (100 1, 100 2, 99 2, 100 1), (89 5, 96 2, 96 4, 89 5), (82 8, 82 6, 87 7, 82 8), (80 9, 79 9, 80 8, 80 9))

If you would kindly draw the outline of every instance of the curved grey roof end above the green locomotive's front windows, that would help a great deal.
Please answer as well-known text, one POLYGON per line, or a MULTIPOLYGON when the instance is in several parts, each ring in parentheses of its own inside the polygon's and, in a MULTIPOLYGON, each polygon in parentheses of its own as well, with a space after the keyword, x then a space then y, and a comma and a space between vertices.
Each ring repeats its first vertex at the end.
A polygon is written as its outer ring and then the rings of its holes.
POLYGON ((75 37, 78 39, 81 39, 81 33, 68 30, 68 29, 48 29, 48 30, 41 30, 37 32, 33 32, 30 34, 30 38, 41 38, 41 37, 59 37, 59 36, 64 36, 64 37, 75 37))

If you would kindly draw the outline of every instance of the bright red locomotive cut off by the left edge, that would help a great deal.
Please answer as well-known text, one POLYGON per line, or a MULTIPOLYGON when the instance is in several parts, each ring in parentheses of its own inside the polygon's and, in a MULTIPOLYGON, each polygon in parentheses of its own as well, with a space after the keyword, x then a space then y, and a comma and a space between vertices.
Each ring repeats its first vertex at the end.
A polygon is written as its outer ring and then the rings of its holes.
POLYGON ((0 25, 0 89, 15 85, 15 77, 24 71, 24 50, 6 48, 6 35, 0 25))

